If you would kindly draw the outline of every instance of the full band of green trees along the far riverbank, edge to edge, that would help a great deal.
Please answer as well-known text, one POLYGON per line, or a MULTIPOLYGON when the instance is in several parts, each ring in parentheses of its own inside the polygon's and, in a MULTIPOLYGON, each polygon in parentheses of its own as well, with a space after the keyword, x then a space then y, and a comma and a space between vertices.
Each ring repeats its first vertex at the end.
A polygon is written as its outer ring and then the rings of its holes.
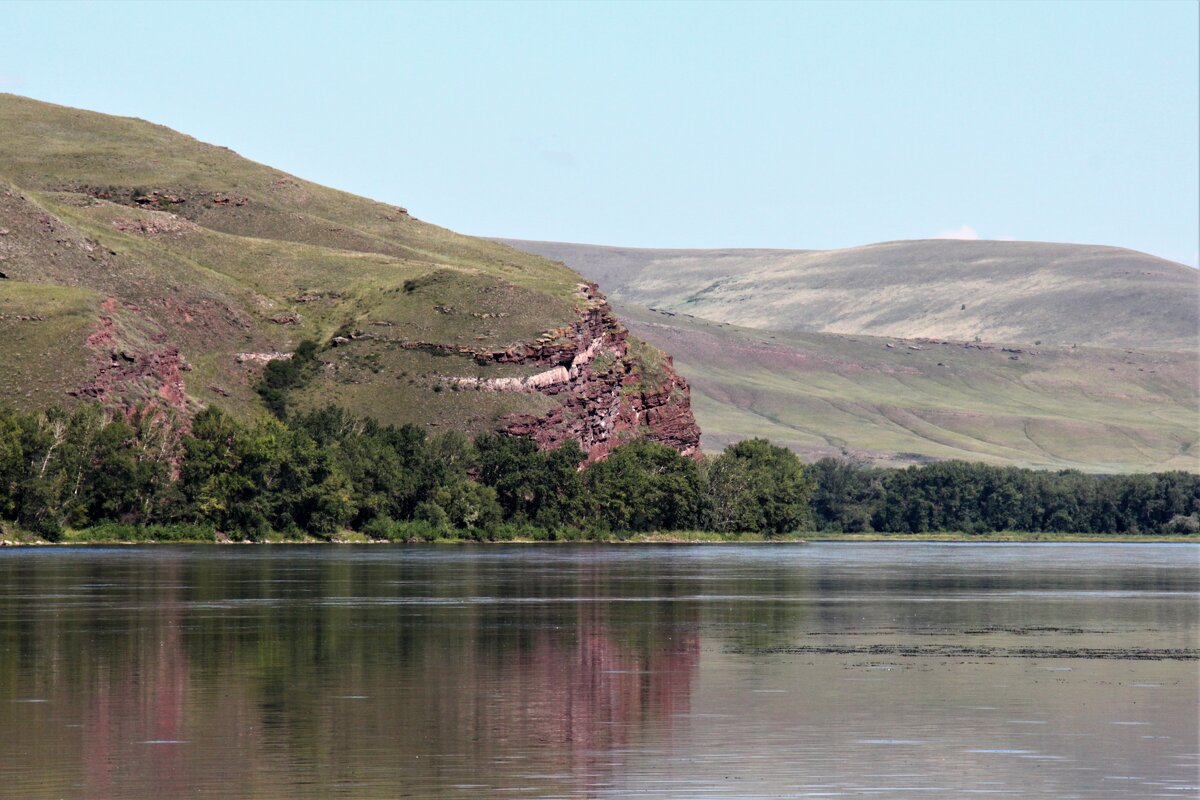
POLYGON ((430 437, 332 407, 251 423, 208 408, 186 434, 160 411, 0 409, 0 525, 78 542, 755 541, 802 530, 1010 541, 1200 530, 1200 476, 1182 471, 804 465, 762 439, 700 461, 647 440, 580 469, 583 457, 574 443, 539 451, 496 434, 430 437))

